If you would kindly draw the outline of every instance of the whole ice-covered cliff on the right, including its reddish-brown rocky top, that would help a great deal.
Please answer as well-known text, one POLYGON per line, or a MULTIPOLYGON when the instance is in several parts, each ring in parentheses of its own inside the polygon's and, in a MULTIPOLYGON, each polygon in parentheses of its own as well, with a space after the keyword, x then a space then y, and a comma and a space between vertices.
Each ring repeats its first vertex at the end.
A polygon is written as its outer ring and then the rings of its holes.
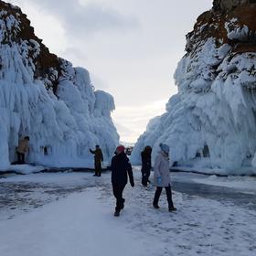
POLYGON ((198 171, 256 173, 256 0, 215 0, 187 34, 178 93, 134 147, 165 142, 172 162, 198 171))

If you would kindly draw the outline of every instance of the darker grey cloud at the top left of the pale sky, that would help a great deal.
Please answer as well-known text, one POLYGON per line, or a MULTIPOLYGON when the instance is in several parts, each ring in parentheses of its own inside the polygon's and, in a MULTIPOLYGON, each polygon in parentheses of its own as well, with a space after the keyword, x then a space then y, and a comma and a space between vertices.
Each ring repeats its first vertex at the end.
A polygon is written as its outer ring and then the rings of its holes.
MULTIPOLYGON (((43 14, 58 16, 67 34, 87 37, 97 32, 123 32, 139 27, 135 16, 123 16, 118 11, 100 3, 81 5, 79 0, 27 0, 31 5, 41 8, 43 14)), ((54 26, 54 25, 53 25, 54 26)))

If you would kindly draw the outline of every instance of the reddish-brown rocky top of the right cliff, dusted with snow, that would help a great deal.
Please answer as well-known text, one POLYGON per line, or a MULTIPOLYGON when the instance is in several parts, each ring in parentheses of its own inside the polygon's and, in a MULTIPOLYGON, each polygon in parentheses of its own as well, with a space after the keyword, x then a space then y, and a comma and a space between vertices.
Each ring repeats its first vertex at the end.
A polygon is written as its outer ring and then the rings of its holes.
POLYGON ((187 34, 187 52, 195 51, 209 37, 216 39, 217 47, 228 44, 232 52, 254 52, 256 0, 219 0, 213 5, 211 11, 198 16, 194 30, 187 34))

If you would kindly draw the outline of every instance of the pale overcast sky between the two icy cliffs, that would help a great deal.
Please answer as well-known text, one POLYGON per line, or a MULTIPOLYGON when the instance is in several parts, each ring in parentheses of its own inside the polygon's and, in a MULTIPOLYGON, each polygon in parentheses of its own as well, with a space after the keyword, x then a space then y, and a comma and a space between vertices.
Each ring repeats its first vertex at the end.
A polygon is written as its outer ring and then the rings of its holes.
POLYGON ((112 116, 125 142, 165 112, 185 36, 212 0, 11 0, 51 52, 91 72, 112 93, 112 116))

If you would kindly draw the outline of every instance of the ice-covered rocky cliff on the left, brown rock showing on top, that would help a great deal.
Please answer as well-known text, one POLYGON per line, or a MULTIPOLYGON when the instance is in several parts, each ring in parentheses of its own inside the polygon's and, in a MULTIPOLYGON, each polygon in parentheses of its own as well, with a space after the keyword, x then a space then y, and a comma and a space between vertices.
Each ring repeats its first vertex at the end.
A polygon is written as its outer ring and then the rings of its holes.
POLYGON ((49 53, 27 16, 0 1, 0 169, 16 161, 26 135, 30 163, 92 165, 95 144, 110 159, 119 140, 113 109, 112 96, 94 91, 86 69, 49 53))

